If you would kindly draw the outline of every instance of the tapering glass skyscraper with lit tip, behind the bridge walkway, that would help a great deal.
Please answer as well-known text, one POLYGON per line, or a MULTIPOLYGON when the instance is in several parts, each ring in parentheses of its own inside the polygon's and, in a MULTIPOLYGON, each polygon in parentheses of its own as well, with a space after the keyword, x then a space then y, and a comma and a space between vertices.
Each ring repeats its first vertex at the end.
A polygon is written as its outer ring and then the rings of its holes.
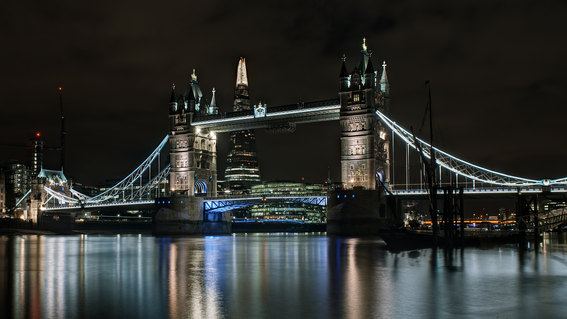
MULTIPOLYGON (((232 110, 239 112, 252 109, 248 98, 246 61, 241 57, 236 72, 232 110)), ((256 158, 256 138, 253 129, 231 133, 225 181, 229 182, 230 190, 234 192, 249 190, 252 184, 260 182, 260 167, 256 158)))

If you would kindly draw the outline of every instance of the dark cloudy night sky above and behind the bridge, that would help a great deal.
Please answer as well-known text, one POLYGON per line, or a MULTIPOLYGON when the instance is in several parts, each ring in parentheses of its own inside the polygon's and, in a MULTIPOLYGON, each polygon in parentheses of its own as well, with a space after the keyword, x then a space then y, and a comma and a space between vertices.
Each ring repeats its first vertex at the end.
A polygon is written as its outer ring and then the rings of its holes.
MULTIPOLYGON (((553 1, 7 2, 0 141, 40 132, 58 146, 61 86, 66 174, 97 186, 126 177, 166 136, 171 85, 183 93, 193 69, 209 101, 215 87, 219 112, 232 110, 241 56, 252 103, 330 99, 342 54, 352 71, 366 37, 375 68, 386 60, 391 114, 404 127, 420 127, 430 80, 439 148, 502 173, 562 178, 566 9, 553 1)), ((328 166, 340 180, 338 121, 256 137, 263 180, 322 183, 328 166)), ((396 142, 395 182, 405 183, 396 142)), ((219 180, 227 146, 219 134, 219 180)), ((25 161, 26 149, 0 146, 0 162, 10 159, 25 161)), ((58 164, 58 151, 45 150, 44 168, 58 164)))

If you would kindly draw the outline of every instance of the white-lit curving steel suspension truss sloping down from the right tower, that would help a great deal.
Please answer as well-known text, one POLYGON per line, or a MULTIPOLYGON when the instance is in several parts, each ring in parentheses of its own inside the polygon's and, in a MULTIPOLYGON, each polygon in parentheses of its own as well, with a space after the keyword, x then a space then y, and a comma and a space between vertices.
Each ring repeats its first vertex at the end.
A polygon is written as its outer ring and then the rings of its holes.
MULTIPOLYGON (((401 125, 397 124, 395 121, 389 119, 386 115, 382 114, 382 112, 376 111, 376 114, 392 129, 393 132, 396 133, 397 136, 401 137, 409 146, 412 148, 416 148, 416 140, 418 143, 421 143, 422 146, 426 146, 423 148, 423 153, 425 157, 430 158, 430 150, 431 145, 427 144, 425 141, 421 140, 420 138, 416 138, 414 140, 413 134, 401 125)), ((536 181, 535 179, 527 179, 521 177, 515 177, 511 175, 506 175, 503 173, 498 173, 496 171, 492 171, 489 169, 485 169, 484 167, 476 166, 462 159, 456 158, 439 150, 435 149, 435 159, 437 163, 445 167, 446 169, 464 176, 466 178, 474 179, 475 181, 479 181, 481 183, 488 183, 493 185, 501 185, 501 186, 532 186, 532 185, 544 185, 549 186, 552 184, 565 184, 567 183, 567 178, 560 178, 554 180, 543 179, 541 181, 536 181)))

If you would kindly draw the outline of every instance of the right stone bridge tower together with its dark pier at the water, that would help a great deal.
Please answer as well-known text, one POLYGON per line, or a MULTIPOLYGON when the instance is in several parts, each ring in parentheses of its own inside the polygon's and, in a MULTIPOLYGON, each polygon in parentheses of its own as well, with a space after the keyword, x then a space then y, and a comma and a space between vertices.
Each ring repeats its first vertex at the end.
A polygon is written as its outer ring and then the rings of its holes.
POLYGON ((341 179, 347 189, 327 192, 327 236, 376 236, 397 220, 396 212, 387 211, 386 194, 379 187, 380 181, 391 184, 391 137, 386 124, 376 115, 376 111, 389 115, 390 83, 386 63, 380 75, 370 56, 363 43, 350 74, 345 58, 342 60, 338 77, 341 179))

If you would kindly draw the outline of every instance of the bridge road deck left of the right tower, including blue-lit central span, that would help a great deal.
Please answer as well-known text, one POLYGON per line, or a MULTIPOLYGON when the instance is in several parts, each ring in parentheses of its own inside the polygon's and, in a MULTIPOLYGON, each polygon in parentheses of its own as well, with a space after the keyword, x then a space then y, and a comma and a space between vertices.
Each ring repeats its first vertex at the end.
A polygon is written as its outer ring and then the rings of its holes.
MULTIPOLYGON (((173 197, 189 197, 187 195, 174 195, 173 197)), ((76 211, 112 211, 116 208, 132 207, 133 209, 153 209, 158 199, 137 200, 132 202, 96 203, 84 205, 64 205, 56 207, 43 207, 45 213, 76 212, 76 211)), ((244 196, 221 196, 204 197, 204 211, 218 213, 230 211, 240 207, 251 206, 268 202, 297 202, 306 204, 327 205, 327 194, 313 193, 308 196, 285 196, 285 195, 244 195, 244 196)))

